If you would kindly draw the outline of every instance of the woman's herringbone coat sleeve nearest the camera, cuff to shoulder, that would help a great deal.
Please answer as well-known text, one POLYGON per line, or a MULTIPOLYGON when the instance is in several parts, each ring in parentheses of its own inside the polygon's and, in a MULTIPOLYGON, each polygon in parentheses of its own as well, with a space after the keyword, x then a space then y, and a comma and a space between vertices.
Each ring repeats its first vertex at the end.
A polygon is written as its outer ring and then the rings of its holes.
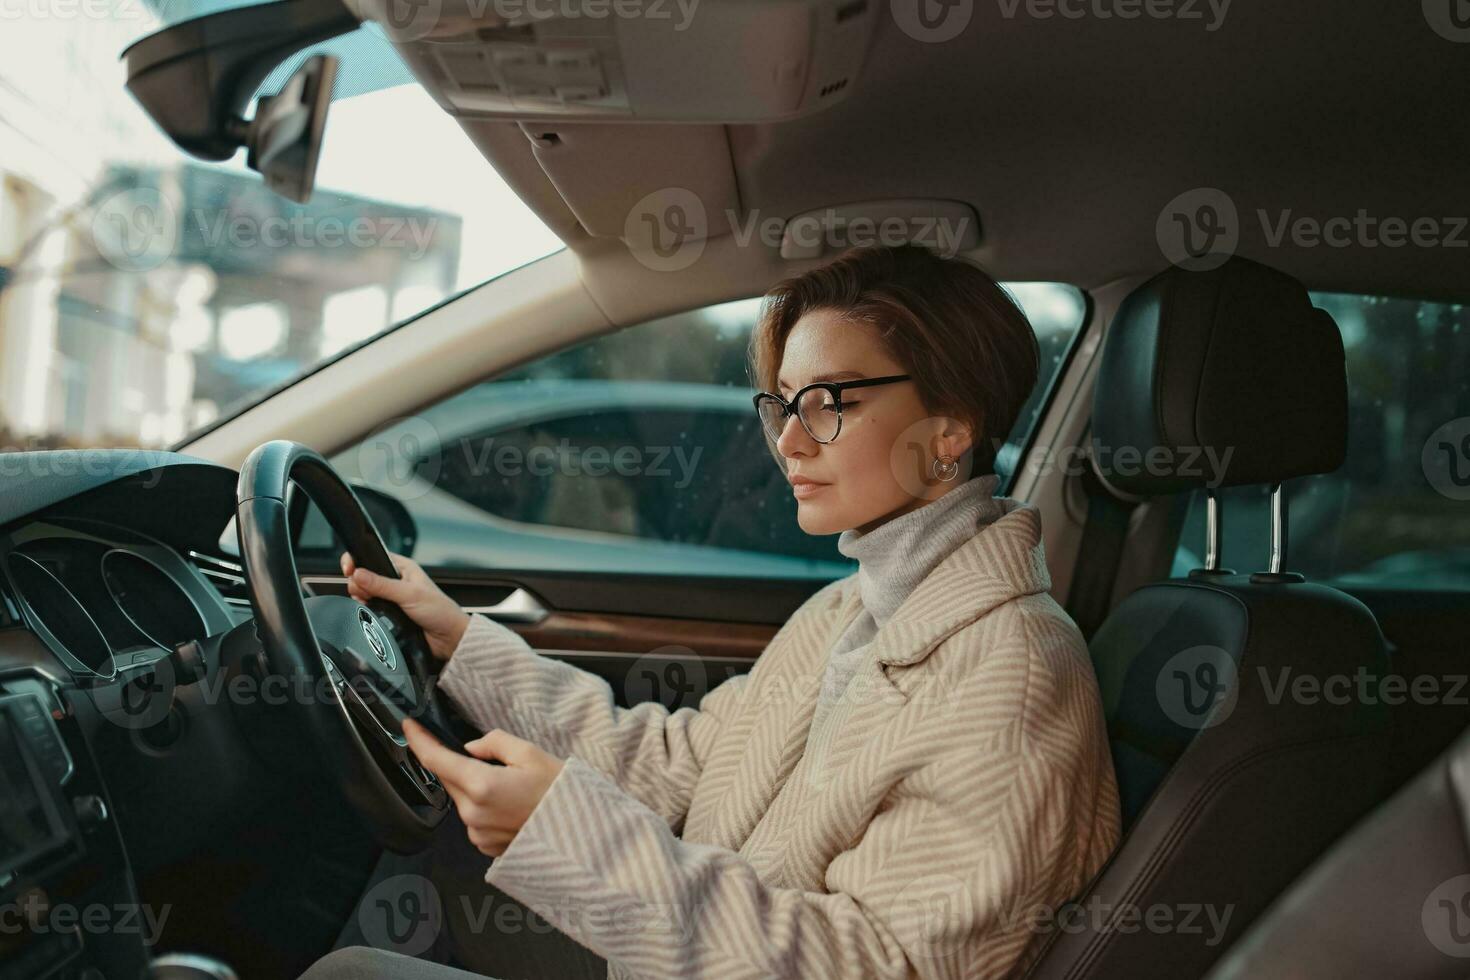
POLYGON ((1091 830, 1110 788, 1098 718, 1057 714, 1070 685, 1025 649, 986 660, 825 892, 676 839, 578 758, 485 880, 634 976, 1004 977, 1110 846, 1091 830))

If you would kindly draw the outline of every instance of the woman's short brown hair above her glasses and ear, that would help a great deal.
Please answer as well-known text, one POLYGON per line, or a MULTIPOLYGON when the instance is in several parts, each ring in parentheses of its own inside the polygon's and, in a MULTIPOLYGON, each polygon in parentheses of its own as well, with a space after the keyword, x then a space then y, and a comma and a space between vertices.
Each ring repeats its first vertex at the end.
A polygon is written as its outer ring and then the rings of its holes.
POLYGON ((778 282, 750 344, 751 376, 763 391, 776 389, 786 336, 813 310, 876 326, 925 408, 973 426, 973 476, 994 472, 995 453, 1036 386, 1041 350, 1026 314, 989 273, 919 245, 863 245, 778 282))

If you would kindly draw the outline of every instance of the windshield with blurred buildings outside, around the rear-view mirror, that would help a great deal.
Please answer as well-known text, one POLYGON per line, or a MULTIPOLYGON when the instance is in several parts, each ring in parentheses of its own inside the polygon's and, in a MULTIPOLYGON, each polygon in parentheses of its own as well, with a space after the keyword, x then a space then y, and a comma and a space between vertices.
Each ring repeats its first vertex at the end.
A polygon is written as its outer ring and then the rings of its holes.
POLYGON ((366 28, 309 204, 185 156, 119 54, 220 6, 0 0, 0 448, 175 444, 562 247, 366 28))

